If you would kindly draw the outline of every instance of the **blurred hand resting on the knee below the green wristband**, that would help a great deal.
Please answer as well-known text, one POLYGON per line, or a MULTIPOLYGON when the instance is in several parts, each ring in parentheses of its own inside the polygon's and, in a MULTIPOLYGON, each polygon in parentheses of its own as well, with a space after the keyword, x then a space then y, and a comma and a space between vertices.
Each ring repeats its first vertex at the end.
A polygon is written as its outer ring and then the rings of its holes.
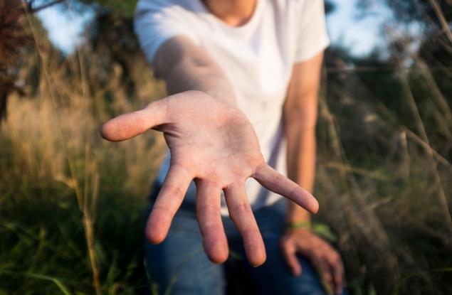
POLYGON ((288 230, 281 238, 281 249, 292 274, 297 277, 302 269, 297 254, 303 254, 315 264, 336 294, 342 294, 344 266, 340 254, 325 240, 308 229, 288 230))

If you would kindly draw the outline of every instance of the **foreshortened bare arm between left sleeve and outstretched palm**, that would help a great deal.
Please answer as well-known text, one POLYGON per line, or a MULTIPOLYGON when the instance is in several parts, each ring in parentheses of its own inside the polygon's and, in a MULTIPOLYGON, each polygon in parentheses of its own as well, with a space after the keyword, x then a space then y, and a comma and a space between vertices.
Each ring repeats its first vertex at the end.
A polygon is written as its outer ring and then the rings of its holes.
POLYGON ((159 75, 170 95, 198 90, 226 104, 236 104, 233 87, 223 70, 188 39, 178 37, 164 43, 157 58, 159 75))

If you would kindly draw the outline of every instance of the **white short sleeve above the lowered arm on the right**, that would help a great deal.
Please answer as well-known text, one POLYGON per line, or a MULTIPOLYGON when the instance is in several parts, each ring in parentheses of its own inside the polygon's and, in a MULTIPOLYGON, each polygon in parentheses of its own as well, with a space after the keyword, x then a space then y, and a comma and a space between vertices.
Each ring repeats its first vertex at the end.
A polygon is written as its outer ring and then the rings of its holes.
POLYGON ((313 58, 330 45, 323 0, 305 0, 298 24, 295 63, 313 58))

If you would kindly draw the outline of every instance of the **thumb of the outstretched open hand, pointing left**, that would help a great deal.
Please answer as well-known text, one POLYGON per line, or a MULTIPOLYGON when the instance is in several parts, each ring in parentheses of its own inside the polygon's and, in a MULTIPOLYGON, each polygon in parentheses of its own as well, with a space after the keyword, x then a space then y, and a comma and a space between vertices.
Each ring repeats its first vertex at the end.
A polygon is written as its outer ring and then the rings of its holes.
POLYGON ((103 124, 100 135, 110 141, 123 141, 140 135, 147 129, 167 121, 166 107, 162 101, 152 102, 144 109, 122 114, 103 124))

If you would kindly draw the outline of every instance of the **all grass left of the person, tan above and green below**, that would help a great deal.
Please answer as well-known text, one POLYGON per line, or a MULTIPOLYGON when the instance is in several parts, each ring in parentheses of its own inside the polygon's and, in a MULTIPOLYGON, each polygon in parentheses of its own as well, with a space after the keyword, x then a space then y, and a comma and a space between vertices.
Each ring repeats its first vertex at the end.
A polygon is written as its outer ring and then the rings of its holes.
MULTIPOLYGON (((1 125, 0 290, 135 294, 145 283, 145 196, 164 145, 155 134, 110 144, 98 129, 108 117, 163 95, 162 84, 139 55, 148 75, 141 78, 138 67, 127 73, 145 84, 130 100, 119 65, 105 56, 100 65, 81 51, 64 59, 43 40, 36 39, 39 50, 19 73, 22 80, 38 76, 28 85, 34 91, 9 97, 1 125), (88 64, 93 68, 86 73, 88 64), (94 69, 108 71, 106 80, 94 69), (88 90, 90 78, 98 84, 88 90)), ((98 48, 96 60, 101 55, 98 48)))

